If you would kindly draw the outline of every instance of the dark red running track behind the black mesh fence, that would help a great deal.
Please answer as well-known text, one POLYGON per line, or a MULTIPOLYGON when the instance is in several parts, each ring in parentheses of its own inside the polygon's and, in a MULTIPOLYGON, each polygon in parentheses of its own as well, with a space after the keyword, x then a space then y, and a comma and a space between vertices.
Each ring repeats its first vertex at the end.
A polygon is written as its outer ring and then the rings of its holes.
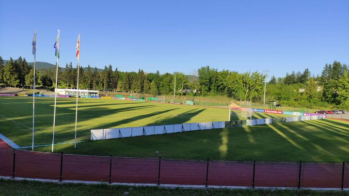
MULTIPOLYGON (((12 176, 14 150, 0 140, 0 176, 12 176)), ((62 180, 206 185, 207 161, 63 155, 62 180), (159 164, 160 163, 160 164, 159 164), (160 166, 160 175, 159 175, 160 166)), ((61 154, 16 150, 15 177, 60 179, 61 154)), ((341 188, 342 163, 303 163, 301 187, 341 188)), ((207 184, 253 184, 253 162, 209 161, 207 184)), ((255 187, 298 187, 299 163, 255 163, 255 187)), ((344 188, 349 188, 345 166, 344 188)))

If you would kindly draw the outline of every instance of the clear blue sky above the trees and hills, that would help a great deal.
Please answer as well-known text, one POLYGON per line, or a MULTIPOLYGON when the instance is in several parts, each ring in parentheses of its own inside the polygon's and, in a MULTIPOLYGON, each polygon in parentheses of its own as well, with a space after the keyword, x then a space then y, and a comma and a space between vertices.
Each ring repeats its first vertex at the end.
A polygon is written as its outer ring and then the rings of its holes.
POLYGON ((0 56, 120 71, 270 75, 349 63, 349 0, 0 0, 0 56))

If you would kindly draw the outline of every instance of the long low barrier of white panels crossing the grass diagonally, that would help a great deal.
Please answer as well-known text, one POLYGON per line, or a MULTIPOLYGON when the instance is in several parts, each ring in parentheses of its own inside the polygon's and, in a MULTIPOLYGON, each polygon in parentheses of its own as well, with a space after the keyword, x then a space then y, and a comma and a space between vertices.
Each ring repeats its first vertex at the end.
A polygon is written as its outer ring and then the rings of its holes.
POLYGON ((256 120, 236 120, 236 121, 216 121, 216 122, 195 122, 169 125, 152 125, 127 128, 112 129, 93 129, 91 130, 91 140, 123 138, 134 136, 150 136, 159 134, 170 134, 186 131, 199 131, 206 129, 232 128, 241 126, 254 126, 261 124, 272 124, 292 121, 308 121, 324 119, 324 115, 299 116, 274 119, 256 119, 256 120))

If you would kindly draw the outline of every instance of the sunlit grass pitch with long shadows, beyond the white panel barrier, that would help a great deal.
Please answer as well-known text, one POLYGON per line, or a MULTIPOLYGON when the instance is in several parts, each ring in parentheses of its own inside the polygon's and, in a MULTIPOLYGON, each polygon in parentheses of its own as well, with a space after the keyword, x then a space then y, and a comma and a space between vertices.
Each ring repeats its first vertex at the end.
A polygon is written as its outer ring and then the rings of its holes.
MULTIPOLYGON (((75 98, 58 98, 55 143, 74 141, 75 98)), ((52 143, 54 98, 35 98, 35 145, 52 143)), ((232 119, 244 119, 236 111, 232 119)), ((227 121, 228 109, 114 99, 79 99, 77 140, 91 129, 227 121)), ((271 115, 277 117, 282 115, 271 115)), ((258 113, 254 118, 267 118, 258 113)), ((32 97, 0 97, 0 134, 19 146, 32 145, 32 97)))

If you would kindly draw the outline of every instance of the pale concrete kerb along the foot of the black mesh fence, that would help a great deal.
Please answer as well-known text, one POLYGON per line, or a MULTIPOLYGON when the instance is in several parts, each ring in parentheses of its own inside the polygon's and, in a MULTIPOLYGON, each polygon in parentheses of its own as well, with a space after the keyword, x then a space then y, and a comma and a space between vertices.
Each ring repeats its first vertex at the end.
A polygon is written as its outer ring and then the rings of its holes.
POLYGON ((101 182, 101 181, 59 181, 59 180, 49 180, 49 179, 34 179, 34 178, 11 178, 7 176, 0 176, 0 179, 3 180, 9 180, 9 181, 40 181, 40 182, 52 182, 57 184, 64 184, 64 183, 72 183, 72 184, 106 184, 106 185, 122 185, 122 186, 140 186, 140 187, 147 187, 147 186, 156 186, 166 189, 249 189, 249 190, 255 190, 255 189, 263 189, 263 190, 312 190, 312 191, 349 191, 349 188, 344 188, 341 190, 340 188, 296 188, 296 187, 254 187, 251 186, 215 186, 215 185, 208 185, 207 187, 205 185, 179 185, 179 184, 152 184, 152 183, 121 183, 121 182, 101 182))

